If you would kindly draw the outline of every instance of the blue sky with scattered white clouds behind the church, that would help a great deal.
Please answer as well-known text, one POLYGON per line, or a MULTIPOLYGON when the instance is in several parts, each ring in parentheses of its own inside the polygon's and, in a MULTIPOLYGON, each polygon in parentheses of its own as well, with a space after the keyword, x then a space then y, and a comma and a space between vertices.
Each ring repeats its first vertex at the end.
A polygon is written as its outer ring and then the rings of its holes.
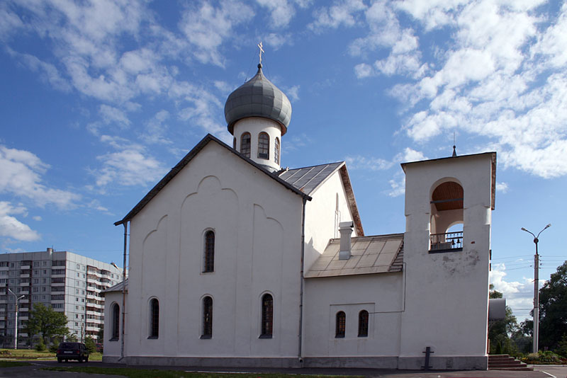
POLYGON ((493 272, 518 318, 567 258, 567 5, 543 0, 2 1, 0 248, 121 263, 121 219, 256 71, 283 166, 347 161, 366 234, 403 232, 400 163, 498 152, 493 272))

